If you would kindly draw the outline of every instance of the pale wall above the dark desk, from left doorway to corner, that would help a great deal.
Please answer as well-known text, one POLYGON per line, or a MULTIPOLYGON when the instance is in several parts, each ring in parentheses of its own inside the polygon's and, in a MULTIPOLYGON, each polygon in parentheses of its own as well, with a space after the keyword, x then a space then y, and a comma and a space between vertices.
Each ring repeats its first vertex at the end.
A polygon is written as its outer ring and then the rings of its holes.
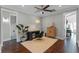
MULTIPOLYGON (((37 24, 35 22, 35 20, 37 20, 37 17, 31 16, 29 14, 24 14, 21 12, 18 12, 17 16, 18 16, 18 24, 23 24, 24 26, 29 26, 29 28, 31 25, 34 25, 34 26, 36 26, 36 29, 40 29, 40 24, 37 24)), ((18 38, 18 41, 20 41, 20 38, 18 38)))

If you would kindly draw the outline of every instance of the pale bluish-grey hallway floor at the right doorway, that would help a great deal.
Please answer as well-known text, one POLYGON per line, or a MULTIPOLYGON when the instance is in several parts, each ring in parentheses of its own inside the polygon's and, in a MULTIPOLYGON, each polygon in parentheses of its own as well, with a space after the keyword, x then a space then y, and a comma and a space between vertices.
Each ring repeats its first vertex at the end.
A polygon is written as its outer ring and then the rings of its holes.
POLYGON ((79 48, 76 44, 76 35, 74 33, 72 33, 71 37, 67 37, 67 39, 65 39, 64 41, 64 51, 66 53, 77 53, 79 52, 79 48))

